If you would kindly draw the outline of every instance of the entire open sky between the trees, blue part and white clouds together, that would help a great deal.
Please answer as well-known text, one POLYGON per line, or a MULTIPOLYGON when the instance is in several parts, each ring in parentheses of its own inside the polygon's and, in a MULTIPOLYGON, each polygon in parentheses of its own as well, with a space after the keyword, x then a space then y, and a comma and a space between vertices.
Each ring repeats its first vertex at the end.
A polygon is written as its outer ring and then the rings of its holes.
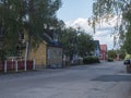
POLYGON ((67 26, 80 26, 85 32, 99 40, 100 45, 107 45, 108 50, 114 48, 112 27, 116 19, 109 23, 97 25, 96 33, 88 26, 87 20, 93 15, 93 0, 62 0, 62 7, 57 12, 58 19, 62 20, 67 26))

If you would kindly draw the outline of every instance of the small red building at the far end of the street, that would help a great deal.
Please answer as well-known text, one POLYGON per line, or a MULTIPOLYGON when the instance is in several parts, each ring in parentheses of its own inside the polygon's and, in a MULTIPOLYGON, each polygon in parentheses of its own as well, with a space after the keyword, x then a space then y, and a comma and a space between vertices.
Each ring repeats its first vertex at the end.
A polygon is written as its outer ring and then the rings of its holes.
POLYGON ((100 45, 100 60, 107 60, 107 45, 100 45))

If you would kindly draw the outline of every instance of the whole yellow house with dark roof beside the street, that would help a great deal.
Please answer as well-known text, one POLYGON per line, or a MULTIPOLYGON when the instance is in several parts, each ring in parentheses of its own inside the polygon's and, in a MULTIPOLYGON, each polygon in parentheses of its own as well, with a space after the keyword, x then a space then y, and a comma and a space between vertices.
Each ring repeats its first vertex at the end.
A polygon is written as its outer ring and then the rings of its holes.
POLYGON ((37 66, 47 68, 48 65, 62 66, 62 47, 55 41, 48 34, 44 34, 44 41, 36 49, 31 49, 29 59, 34 59, 37 66))

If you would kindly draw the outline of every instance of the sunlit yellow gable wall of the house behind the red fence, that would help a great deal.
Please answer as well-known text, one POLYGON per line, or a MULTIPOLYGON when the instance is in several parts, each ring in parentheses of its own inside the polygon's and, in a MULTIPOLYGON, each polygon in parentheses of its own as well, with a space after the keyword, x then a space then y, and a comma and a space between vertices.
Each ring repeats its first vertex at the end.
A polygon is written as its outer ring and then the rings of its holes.
POLYGON ((40 44, 38 49, 32 49, 29 53, 29 59, 35 60, 36 65, 46 65, 46 48, 45 42, 40 44))

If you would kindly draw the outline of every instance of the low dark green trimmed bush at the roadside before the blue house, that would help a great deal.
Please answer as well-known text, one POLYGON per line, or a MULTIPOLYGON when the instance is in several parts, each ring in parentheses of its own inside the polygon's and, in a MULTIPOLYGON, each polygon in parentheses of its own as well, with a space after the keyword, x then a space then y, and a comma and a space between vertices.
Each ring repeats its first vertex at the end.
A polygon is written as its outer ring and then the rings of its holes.
POLYGON ((83 59, 84 64, 99 63, 98 57, 86 57, 83 59))

